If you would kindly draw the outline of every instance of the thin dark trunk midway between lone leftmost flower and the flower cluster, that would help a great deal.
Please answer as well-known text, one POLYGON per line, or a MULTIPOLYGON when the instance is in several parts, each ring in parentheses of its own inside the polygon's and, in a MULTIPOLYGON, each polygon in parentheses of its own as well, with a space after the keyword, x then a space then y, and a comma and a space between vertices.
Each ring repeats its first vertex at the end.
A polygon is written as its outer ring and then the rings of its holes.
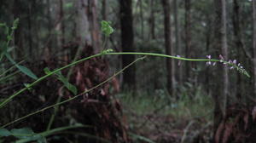
MULTIPOLYGON (((185 0, 185 54, 187 58, 191 58, 191 3, 190 0, 185 0)), ((191 77, 191 62, 186 62, 186 78, 191 77)))

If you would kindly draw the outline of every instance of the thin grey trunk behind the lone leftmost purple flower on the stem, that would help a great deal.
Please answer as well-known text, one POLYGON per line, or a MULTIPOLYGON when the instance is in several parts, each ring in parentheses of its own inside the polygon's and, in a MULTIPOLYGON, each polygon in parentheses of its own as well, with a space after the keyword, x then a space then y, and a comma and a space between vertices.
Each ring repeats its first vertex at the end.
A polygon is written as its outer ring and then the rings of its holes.
MULTIPOLYGON (((176 51, 177 54, 182 54, 182 49, 180 47, 180 28, 179 28, 179 19, 178 19, 178 3, 177 0, 173 1, 174 5, 174 23, 175 23, 175 43, 176 43, 176 51)), ((183 68, 182 66, 178 66, 178 73, 177 73, 179 83, 183 82, 183 68)))

